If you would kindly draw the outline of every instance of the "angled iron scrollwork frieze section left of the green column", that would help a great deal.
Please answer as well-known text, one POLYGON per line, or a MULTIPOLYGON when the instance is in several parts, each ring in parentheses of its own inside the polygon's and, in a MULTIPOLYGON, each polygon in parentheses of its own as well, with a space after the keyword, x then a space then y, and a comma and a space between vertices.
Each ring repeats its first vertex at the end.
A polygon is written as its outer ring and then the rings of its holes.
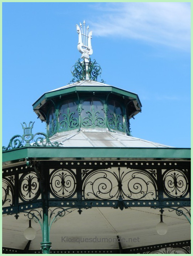
POLYGON ((13 214, 41 207, 39 180, 32 166, 26 164, 2 171, 2 213, 13 214))

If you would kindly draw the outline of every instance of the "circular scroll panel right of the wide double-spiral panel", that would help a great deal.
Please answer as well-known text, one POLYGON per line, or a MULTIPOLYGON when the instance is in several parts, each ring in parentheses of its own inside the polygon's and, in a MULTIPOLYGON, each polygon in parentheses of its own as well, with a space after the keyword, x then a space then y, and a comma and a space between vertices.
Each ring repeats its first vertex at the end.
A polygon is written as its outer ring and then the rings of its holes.
POLYGON ((188 193, 188 178, 184 170, 167 170, 163 174, 164 192, 173 198, 185 197, 188 193))

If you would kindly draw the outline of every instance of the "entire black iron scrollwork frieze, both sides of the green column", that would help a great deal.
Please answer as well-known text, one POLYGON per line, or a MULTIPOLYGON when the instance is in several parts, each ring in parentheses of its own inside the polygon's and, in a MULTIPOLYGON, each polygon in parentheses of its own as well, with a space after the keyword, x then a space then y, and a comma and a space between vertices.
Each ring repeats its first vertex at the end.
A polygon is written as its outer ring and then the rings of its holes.
POLYGON ((42 186, 50 207, 190 206, 189 161, 61 160, 41 161, 41 167, 37 163, 3 169, 3 214, 41 207, 42 186))

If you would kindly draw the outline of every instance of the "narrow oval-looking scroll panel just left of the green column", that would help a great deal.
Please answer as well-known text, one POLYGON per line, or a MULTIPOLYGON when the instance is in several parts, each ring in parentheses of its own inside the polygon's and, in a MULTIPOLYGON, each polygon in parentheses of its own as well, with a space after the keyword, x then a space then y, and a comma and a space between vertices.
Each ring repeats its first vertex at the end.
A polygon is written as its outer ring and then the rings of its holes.
POLYGON ((20 177, 19 197, 22 201, 32 201, 40 195, 39 182, 35 172, 28 172, 20 177))

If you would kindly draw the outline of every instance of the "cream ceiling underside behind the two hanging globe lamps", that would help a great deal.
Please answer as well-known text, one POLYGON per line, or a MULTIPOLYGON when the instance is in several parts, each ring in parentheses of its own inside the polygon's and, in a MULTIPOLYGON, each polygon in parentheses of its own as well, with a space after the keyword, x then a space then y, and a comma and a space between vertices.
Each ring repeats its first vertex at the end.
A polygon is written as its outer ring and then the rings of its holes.
MULTIPOLYGON (((64 217, 52 224, 52 250, 118 249, 117 236, 120 237, 123 249, 185 241, 191 237, 190 224, 186 217, 178 216, 176 211, 170 212, 168 209, 164 209, 163 213, 168 232, 162 236, 155 229, 160 221, 159 209, 132 207, 121 211, 110 207, 93 207, 82 209, 81 215, 78 214, 78 209, 68 211, 64 217)), ((2 246, 24 249, 27 244, 24 230, 28 226, 29 219, 24 213, 20 213, 17 220, 14 215, 3 215, 2 246)), ((35 221, 32 221, 32 227, 37 234, 31 241, 30 250, 39 250, 42 241, 41 229, 35 221)))

